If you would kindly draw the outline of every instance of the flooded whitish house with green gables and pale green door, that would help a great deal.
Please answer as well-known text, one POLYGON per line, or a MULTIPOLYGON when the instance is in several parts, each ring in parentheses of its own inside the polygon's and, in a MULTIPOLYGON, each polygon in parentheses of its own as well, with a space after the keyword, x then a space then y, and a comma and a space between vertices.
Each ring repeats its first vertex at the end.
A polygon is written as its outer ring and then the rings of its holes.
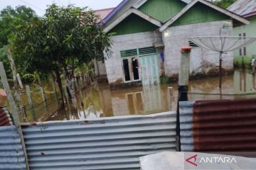
MULTIPOLYGON (((111 87, 175 81, 182 46, 193 46, 191 76, 216 74, 218 53, 204 50, 188 37, 219 35, 223 21, 248 24, 245 18, 204 0, 124 0, 100 25, 112 37, 113 56, 105 60, 111 87)), ((233 28, 223 31, 233 35, 233 28)), ((233 70, 233 52, 223 56, 233 70)))

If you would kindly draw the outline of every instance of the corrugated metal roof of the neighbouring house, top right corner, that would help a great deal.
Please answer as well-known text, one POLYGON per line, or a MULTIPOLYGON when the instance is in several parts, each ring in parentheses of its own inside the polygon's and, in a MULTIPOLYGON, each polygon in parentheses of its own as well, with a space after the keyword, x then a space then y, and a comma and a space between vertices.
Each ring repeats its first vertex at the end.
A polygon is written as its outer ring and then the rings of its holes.
POLYGON ((256 0, 238 0, 228 7, 228 10, 232 11, 233 13, 237 13, 240 16, 247 17, 248 14, 255 13, 256 0))

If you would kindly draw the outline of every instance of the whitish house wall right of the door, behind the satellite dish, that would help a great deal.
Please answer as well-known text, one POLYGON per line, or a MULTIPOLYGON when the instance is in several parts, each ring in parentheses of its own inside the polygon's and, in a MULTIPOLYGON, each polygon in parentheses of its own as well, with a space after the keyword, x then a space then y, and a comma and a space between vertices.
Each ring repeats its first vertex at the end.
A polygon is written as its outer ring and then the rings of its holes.
MULTIPOLYGON (((218 36, 223 21, 210 23, 196 23, 186 26, 167 28, 162 33, 165 45, 165 72, 171 77, 178 74, 181 47, 188 46, 188 37, 194 36, 218 36)), ((224 30, 222 35, 233 35, 233 29, 224 30)), ((191 52, 191 74, 207 73, 218 66, 218 52, 205 50, 201 47, 191 52)), ((233 52, 223 55, 223 68, 233 69, 233 52)))

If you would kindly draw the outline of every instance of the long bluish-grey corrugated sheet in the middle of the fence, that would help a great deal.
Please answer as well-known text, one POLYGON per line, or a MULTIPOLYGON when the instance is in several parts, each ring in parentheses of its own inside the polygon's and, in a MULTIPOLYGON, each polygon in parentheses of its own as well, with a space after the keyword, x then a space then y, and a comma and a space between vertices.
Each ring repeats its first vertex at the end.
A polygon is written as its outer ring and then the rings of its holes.
POLYGON ((22 125, 32 170, 139 169, 139 157, 175 151, 176 113, 22 125))

